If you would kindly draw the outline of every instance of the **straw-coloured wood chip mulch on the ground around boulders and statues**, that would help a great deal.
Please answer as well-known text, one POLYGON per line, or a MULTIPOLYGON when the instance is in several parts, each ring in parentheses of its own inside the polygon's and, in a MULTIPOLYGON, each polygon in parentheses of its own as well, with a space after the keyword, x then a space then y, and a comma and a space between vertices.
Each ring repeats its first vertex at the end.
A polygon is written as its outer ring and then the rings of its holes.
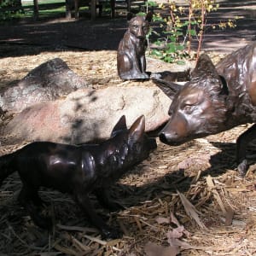
MULTIPOLYGON (((0 59, 0 86, 55 56, 95 86, 120 83, 114 52, 63 51, 0 59)), ((16 201, 21 183, 13 174, 0 190, 0 255, 256 255, 256 144, 246 177, 237 175, 235 160, 236 137, 247 128, 179 147, 158 141, 148 160, 113 186, 125 210, 108 212, 91 197, 102 218, 122 231, 113 241, 102 240, 68 195, 48 189, 40 193, 55 229, 40 230, 16 201)), ((1 155, 28 143, 0 141, 1 155)))

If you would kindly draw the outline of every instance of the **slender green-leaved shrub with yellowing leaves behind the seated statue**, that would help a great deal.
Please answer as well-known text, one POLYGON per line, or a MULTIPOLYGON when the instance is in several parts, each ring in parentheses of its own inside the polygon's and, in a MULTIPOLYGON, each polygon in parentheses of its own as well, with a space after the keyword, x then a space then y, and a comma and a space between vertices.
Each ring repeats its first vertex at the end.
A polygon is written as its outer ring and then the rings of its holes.
POLYGON ((149 34, 149 37, 157 37, 153 41, 155 47, 149 49, 151 55, 166 62, 183 64, 185 59, 193 58, 192 40, 197 41, 196 59, 198 58, 207 28, 224 29, 236 26, 235 20, 207 24, 207 15, 219 8, 215 0, 186 0, 186 3, 184 6, 177 6, 175 2, 159 5, 160 12, 154 15, 154 21, 159 24, 159 28, 152 29, 149 34))

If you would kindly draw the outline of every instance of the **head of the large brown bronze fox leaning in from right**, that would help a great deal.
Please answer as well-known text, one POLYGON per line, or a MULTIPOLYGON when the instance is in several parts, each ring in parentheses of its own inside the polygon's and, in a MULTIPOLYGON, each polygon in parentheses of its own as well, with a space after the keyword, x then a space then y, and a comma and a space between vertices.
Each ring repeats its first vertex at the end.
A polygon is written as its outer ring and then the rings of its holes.
POLYGON ((170 119, 160 131, 162 143, 178 145, 229 128, 229 90, 207 55, 201 55, 189 82, 173 85, 172 91, 177 92, 172 96, 170 119))

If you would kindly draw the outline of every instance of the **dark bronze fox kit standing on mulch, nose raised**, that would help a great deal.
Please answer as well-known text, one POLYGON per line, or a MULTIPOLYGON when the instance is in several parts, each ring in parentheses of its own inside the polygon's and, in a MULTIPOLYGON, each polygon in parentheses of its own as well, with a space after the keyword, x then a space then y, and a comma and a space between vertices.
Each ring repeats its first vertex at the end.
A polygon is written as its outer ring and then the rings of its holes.
POLYGON ((73 195, 102 236, 116 238, 119 231, 110 228, 96 214, 88 194, 94 193, 103 207, 116 209, 108 198, 109 186, 131 166, 145 160, 154 148, 155 139, 145 134, 144 116, 129 130, 123 116, 114 126, 111 137, 100 144, 74 146, 37 142, 3 155, 0 157, 0 185, 11 173, 19 172, 22 181, 19 201, 40 227, 51 226, 50 218, 38 213, 38 207, 43 205, 38 189, 44 186, 73 195))

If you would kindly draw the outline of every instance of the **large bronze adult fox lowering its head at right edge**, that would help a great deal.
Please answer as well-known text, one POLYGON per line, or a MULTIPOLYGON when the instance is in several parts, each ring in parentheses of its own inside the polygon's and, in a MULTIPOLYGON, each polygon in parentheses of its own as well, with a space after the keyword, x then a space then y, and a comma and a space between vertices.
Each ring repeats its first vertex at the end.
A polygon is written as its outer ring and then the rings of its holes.
MULTIPOLYGON (((189 82, 178 84, 154 79, 172 98, 170 120, 160 131, 160 141, 178 145, 256 121, 256 43, 224 57, 214 67, 201 55, 189 82)), ((247 172, 247 143, 256 138, 256 125, 240 137, 236 146, 238 172, 247 172)))

